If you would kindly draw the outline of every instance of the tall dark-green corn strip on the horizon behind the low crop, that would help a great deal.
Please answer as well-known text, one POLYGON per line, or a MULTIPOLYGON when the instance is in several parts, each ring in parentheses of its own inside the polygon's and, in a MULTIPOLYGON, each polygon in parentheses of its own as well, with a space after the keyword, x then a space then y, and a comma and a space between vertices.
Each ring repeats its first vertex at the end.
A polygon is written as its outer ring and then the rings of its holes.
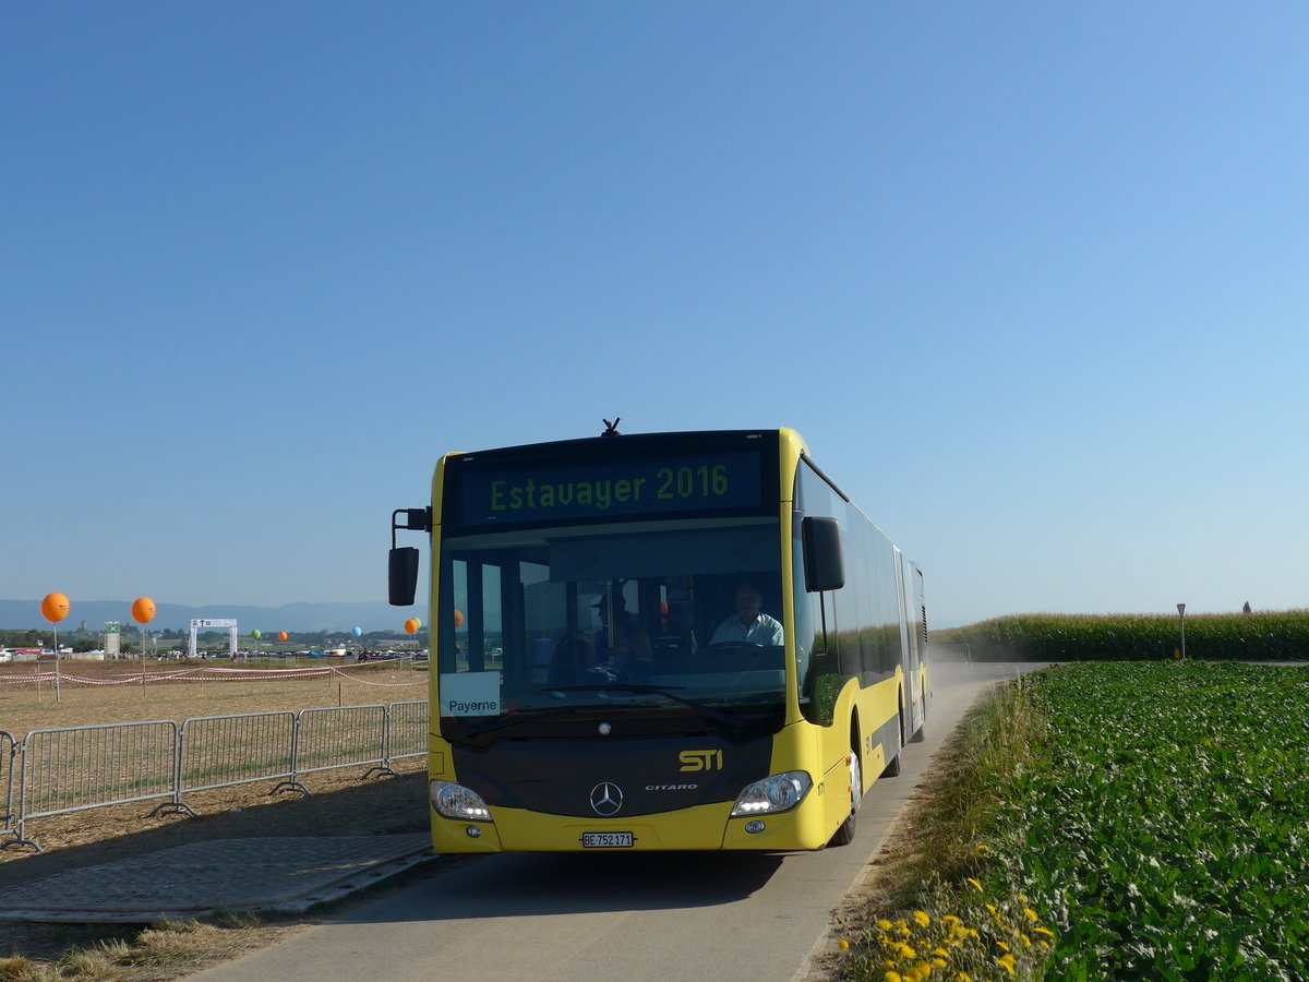
MULTIPOLYGON (((1179 618, 1162 614, 1020 614, 933 631, 967 644, 974 661, 1164 661, 1182 647, 1179 618)), ((1186 618, 1186 657, 1309 660, 1309 610, 1186 618)))

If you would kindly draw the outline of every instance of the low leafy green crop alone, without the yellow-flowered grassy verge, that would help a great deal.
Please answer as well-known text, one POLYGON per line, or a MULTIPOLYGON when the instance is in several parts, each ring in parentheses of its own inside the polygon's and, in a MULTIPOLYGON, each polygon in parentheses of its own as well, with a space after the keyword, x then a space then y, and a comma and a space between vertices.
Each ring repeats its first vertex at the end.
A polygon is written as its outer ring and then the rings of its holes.
POLYGON ((1062 665, 990 873, 1058 924, 1051 979, 1309 978, 1309 669, 1062 665))

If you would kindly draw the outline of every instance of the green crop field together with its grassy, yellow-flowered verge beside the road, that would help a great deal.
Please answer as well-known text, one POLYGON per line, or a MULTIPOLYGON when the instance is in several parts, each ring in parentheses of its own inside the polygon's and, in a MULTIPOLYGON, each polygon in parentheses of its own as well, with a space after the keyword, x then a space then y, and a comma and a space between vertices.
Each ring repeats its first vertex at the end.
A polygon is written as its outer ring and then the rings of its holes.
POLYGON ((847 977, 1309 978, 1309 669, 1060 665, 965 736, 966 860, 873 913, 847 977))

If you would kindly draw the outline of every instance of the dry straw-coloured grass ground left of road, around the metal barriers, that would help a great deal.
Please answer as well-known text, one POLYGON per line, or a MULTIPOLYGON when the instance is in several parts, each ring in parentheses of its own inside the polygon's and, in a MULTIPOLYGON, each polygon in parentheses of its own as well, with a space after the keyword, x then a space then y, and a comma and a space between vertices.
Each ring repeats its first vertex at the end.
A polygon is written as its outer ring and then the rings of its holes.
MULTIPOLYGON (((195 663, 65 661, 68 677, 98 683, 17 682, 31 663, 0 665, 0 729, 21 740, 33 729, 174 720, 329 706, 377 706, 427 698, 427 673, 394 663, 342 666, 339 673, 288 677, 276 672, 242 681, 165 681, 195 663), (111 685, 118 682, 117 685, 111 685)), ((203 663, 230 668, 226 661, 203 663)), ((208 676, 219 673, 207 672, 208 676)), ((225 674, 225 673, 224 673, 225 674)), ((153 801, 97 808, 29 822, 42 848, 0 850, 0 882, 20 884, 69 869, 148 855, 192 842, 264 835, 390 835, 427 830, 427 761, 398 761, 399 778, 364 779, 365 769, 309 774, 312 799, 268 793, 255 782, 187 795, 198 818, 149 818, 153 801)), ((415 873, 416 875, 416 873, 415 873)), ((394 889, 398 877, 386 889, 394 889)), ((0 982, 153 982, 178 978, 243 951, 271 944, 313 918, 250 918, 219 924, 77 927, 0 922, 0 982)))

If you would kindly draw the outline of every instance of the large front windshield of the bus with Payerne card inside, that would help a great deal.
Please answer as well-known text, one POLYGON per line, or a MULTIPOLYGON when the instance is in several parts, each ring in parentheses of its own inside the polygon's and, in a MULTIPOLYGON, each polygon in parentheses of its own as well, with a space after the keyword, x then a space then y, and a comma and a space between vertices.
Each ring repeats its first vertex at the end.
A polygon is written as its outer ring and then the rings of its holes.
POLYGON ((779 536, 776 518, 745 517, 446 538, 441 735, 593 731, 597 715, 651 733, 779 728, 779 536))

